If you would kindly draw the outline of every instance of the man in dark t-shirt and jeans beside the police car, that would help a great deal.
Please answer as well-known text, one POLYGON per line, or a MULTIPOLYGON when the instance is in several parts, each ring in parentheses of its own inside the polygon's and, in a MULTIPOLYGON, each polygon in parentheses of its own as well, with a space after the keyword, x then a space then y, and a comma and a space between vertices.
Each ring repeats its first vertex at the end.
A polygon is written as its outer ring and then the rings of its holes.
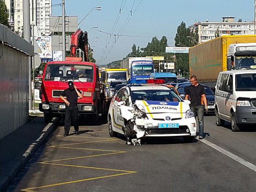
POLYGON ((199 139, 203 139, 204 135, 204 106, 206 112, 208 112, 207 108, 207 100, 205 96, 204 86, 200 85, 197 81, 197 77, 195 75, 190 77, 191 85, 187 87, 185 90, 185 99, 188 100, 190 97, 190 108, 198 117, 198 127, 199 127, 199 139))

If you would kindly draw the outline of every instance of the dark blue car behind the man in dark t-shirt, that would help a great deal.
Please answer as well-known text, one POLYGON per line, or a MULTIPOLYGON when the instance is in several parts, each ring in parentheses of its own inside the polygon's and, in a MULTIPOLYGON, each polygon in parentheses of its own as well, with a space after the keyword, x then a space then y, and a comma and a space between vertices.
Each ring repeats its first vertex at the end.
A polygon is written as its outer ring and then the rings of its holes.
MULTIPOLYGON (((177 91, 179 92, 181 98, 185 99, 186 88, 190 85, 191 84, 183 84, 183 85, 178 86, 177 91)), ((207 85, 203 85, 203 86, 204 86, 205 93, 206 93, 205 96, 207 99, 208 110, 209 110, 209 112, 214 113, 215 112, 214 92, 207 85)))

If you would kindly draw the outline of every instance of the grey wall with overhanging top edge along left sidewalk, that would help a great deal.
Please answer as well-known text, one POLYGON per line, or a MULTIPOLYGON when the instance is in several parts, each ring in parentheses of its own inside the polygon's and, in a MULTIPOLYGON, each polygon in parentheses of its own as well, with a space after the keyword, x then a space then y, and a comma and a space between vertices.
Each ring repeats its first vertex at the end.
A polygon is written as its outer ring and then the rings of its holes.
POLYGON ((0 25, 0 139, 28 121, 31 51, 31 44, 0 25))

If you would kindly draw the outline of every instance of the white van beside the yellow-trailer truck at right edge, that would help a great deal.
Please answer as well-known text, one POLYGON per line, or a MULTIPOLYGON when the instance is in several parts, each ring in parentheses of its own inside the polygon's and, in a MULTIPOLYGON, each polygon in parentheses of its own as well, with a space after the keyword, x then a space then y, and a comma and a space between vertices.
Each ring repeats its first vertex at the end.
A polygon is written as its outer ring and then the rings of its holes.
POLYGON ((231 122, 232 131, 256 125, 256 70, 219 73, 215 86, 216 125, 231 122))

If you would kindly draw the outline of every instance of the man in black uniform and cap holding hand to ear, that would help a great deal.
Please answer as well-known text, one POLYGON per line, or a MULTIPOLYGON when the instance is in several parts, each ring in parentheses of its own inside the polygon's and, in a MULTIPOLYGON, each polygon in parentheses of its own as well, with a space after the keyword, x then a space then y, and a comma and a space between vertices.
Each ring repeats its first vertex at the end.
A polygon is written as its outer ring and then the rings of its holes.
POLYGON ((83 98, 81 92, 79 89, 76 88, 73 81, 68 82, 68 89, 65 89, 61 95, 60 98, 66 103, 66 115, 65 115, 65 122, 64 122, 64 129, 65 134, 64 137, 68 136, 70 125, 71 125, 71 119, 74 124, 75 128, 75 134, 79 135, 78 133, 78 124, 77 124, 77 118, 78 118, 78 107, 77 107, 77 97, 83 98), (67 97, 65 99, 64 97, 67 97))

